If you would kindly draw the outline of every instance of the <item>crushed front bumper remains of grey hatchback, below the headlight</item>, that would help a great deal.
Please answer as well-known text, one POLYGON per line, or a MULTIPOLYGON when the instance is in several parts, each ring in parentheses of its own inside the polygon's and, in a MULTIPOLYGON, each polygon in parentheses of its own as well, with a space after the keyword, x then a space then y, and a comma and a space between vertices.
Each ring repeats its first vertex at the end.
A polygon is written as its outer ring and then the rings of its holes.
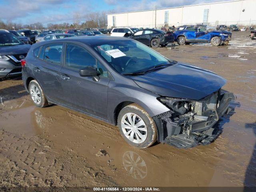
POLYGON ((172 110, 156 115, 153 118, 157 126, 158 142, 163 142, 178 148, 189 148, 199 144, 209 144, 213 142, 222 132, 214 125, 220 118, 231 110, 230 100, 236 97, 230 92, 222 94, 218 108, 208 112, 208 118, 195 115, 175 116, 172 110))

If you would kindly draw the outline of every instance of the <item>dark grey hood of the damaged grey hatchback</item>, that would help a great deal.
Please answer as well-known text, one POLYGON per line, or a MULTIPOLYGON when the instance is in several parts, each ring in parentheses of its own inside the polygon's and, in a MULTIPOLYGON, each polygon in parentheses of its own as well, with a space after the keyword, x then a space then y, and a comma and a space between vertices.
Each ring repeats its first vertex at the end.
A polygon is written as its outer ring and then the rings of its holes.
POLYGON ((191 100, 200 100, 226 83, 224 78, 213 72, 183 63, 130 77, 141 88, 160 96, 191 100))

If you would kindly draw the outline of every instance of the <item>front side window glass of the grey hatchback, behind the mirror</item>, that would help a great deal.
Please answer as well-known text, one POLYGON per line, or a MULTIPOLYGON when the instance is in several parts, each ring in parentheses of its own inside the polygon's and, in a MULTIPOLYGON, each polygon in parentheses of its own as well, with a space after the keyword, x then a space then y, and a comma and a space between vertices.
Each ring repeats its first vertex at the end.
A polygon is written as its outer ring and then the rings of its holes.
POLYGON ((67 44, 66 67, 80 70, 86 66, 96 67, 96 59, 84 48, 73 44, 67 44))

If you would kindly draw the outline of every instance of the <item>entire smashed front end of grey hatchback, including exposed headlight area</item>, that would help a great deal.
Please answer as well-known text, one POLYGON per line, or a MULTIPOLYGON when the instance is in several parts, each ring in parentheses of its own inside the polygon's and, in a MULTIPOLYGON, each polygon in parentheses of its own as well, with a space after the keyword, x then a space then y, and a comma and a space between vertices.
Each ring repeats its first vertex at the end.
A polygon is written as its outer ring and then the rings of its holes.
POLYGON ((236 97, 219 89, 201 100, 160 97, 170 111, 153 117, 158 128, 158 142, 189 148, 213 142, 222 130, 213 128, 236 97))

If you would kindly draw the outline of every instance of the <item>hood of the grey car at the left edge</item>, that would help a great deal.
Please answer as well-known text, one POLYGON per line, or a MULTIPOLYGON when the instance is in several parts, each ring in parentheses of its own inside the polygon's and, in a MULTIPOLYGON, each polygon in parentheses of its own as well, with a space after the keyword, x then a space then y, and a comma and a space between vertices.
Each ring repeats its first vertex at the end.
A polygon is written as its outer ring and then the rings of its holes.
POLYGON ((30 44, 0 46, 0 55, 15 55, 28 53, 30 47, 30 44))

